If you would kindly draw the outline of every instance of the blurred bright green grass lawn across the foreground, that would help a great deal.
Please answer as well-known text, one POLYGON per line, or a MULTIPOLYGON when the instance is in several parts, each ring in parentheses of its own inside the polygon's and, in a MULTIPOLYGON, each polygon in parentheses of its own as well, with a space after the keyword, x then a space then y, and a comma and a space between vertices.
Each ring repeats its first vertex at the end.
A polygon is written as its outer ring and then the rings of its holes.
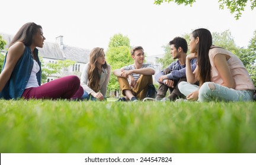
POLYGON ((0 153, 256 153, 256 102, 0 100, 0 153))

